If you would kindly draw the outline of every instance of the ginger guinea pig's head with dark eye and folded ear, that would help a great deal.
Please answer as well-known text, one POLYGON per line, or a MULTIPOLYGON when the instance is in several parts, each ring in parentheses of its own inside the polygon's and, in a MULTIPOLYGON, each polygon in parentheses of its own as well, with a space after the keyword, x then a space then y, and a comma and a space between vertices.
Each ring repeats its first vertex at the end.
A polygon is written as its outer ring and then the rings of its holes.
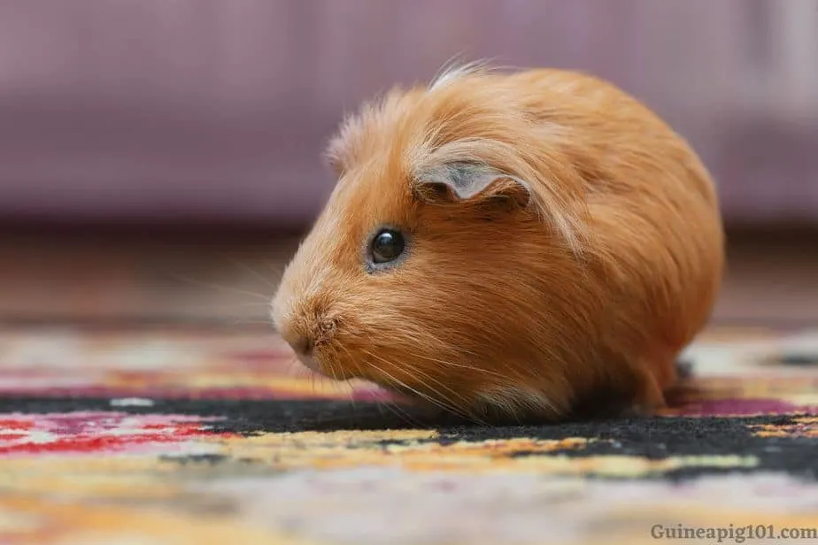
POLYGON ((345 122, 336 187, 283 273, 274 324, 332 379, 467 416, 559 412, 567 370, 540 364, 566 361, 582 321, 567 311, 581 199, 569 175, 532 183, 559 174, 536 151, 542 128, 481 89, 395 90, 345 122))

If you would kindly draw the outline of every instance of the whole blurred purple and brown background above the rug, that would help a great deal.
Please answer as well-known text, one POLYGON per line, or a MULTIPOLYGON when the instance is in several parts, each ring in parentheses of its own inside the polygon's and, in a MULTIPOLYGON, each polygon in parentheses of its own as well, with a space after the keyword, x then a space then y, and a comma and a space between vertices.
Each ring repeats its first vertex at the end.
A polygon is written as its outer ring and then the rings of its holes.
POLYGON ((716 319, 818 319, 818 1, 0 0, 0 319, 266 317, 343 114, 451 58, 596 73, 718 180, 716 319))

